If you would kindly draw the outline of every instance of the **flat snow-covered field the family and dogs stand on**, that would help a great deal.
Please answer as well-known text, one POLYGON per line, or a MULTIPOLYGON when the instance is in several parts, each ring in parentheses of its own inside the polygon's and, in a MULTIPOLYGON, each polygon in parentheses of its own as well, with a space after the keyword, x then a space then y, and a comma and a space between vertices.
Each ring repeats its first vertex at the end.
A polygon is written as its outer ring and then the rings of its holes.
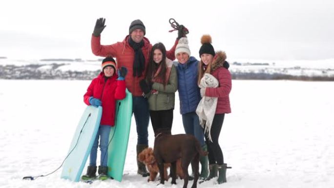
MULTIPOLYGON (((136 174, 132 120, 123 181, 89 185, 60 178, 61 169, 34 181, 23 176, 60 166, 84 111, 90 81, 0 80, 0 188, 182 188, 147 183, 136 174)), ((232 113, 220 144, 228 183, 198 188, 334 188, 334 82, 232 81, 232 113)), ((184 133, 176 98, 172 133, 184 133)), ((149 144, 153 145, 149 127, 149 144)), ((84 171, 86 168, 84 168, 84 171)), ((189 182, 188 188, 192 185, 189 182)))

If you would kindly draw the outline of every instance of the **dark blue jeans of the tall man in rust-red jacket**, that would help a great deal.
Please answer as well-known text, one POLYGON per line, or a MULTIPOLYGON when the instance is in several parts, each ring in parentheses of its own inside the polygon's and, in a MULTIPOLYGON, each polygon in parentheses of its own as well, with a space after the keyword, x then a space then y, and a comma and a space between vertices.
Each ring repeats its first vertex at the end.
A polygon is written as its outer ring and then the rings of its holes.
POLYGON ((137 126, 137 144, 148 145, 148 102, 144 97, 132 97, 132 113, 135 116, 137 126))

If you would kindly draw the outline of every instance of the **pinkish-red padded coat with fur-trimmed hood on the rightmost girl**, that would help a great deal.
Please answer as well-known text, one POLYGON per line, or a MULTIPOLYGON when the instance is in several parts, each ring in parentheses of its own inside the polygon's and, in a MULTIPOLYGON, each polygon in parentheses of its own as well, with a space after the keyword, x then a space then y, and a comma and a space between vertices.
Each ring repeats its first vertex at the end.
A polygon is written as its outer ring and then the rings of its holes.
POLYGON ((211 64, 211 75, 214 76, 219 86, 216 88, 207 87, 205 89, 205 96, 218 97, 216 114, 231 113, 230 108, 230 91, 232 88, 232 77, 230 71, 224 68, 226 62, 225 52, 217 52, 211 64))

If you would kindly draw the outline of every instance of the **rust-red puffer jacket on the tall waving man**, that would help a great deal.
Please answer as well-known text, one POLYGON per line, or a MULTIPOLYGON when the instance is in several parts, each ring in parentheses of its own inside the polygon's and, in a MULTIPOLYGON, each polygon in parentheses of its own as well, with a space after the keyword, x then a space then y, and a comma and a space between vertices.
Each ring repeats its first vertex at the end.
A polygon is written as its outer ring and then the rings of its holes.
MULTIPOLYGON (((128 38, 126 36, 123 42, 117 42, 111 45, 101 45, 101 37, 95 37, 92 35, 91 39, 91 48, 94 55, 97 56, 112 56, 116 58, 117 67, 125 66, 127 68, 127 74, 125 76, 126 88, 132 93, 133 96, 142 96, 142 89, 139 86, 139 82, 146 77, 146 71, 143 72, 142 76, 134 77, 133 76, 133 61, 135 52, 133 48, 129 45, 128 38)), ((142 51, 145 57, 145 70, 149 61, 149 53, 152 49, 152 44, 144 37, 144 46, 142 51)), ((166 55, 168 59, 174 60, 175 47, 178 41, 175 41, 174 46, 167 51, 166 55)))

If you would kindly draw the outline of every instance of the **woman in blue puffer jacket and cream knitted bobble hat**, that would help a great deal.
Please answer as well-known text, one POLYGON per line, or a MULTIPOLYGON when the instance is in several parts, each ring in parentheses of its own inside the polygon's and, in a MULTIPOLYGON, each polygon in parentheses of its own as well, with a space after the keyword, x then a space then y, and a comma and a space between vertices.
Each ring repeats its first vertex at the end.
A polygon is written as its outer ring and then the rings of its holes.
MULTIPOLYGON (((181 38, 175 49, 175 57, 178 62, 174 62, 177 70, 178 90, 180 99, 180 113, 182 122, 187 134, 194 135, 201 143, 202 149, 207 151, 204 141, 204 131, 199 124, 196 108, 202 97, 197 84, 198 60, 190 56, 188 38, 181 38)), ((208 156, 200 157, 201 173, 199 178, 206 179, 209 175, 208 156)))

